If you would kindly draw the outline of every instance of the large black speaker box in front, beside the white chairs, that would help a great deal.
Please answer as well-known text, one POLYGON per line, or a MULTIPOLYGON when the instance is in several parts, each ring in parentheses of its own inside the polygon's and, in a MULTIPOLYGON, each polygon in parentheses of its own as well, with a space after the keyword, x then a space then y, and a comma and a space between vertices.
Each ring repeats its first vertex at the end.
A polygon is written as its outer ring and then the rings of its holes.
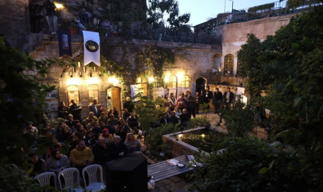
POLYGON ((141 155, 124 157, 106 163, 108 192, 146 192, 147 159, 141 155))

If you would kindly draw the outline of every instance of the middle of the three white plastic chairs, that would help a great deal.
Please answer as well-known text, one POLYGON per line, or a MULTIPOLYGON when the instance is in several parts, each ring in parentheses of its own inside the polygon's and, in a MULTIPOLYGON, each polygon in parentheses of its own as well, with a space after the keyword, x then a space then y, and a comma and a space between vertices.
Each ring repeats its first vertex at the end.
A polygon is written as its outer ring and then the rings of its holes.
POLYGON ((72 191, 75 192, 83 192, 83 188, 80 185, 80 171, 76 168, 69 168, 69 169, 64 169, 58 173, 58 183, 60 183, 60 188, 61 189, 71 189, 72 191), (77 182, 77 187, 80 188, 73 188, 74 185, 74 174, 76 174, 76 182, 77 182), (65 188, 62 188, 62 182, 60 181, 60 177, 64 178, 65 181, 65 188))

